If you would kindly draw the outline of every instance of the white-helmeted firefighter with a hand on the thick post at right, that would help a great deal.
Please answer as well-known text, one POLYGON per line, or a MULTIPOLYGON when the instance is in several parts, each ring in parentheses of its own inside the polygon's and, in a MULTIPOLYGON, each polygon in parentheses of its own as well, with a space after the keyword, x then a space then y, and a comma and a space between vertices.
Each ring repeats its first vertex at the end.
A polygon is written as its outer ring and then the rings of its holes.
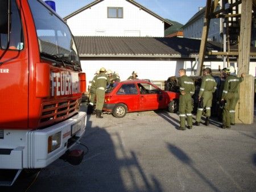
POLYGON ((245 74, 241 74, 241 77, 236 76, 236 70, 233 66, 227 68, 228 77, 224 83, 224 89, 222 92, 221 101, 225 101, 223 115, 222 115, 222 128, 230 128, 235 125, 235 112, 236 105, 239 99, 239 87, 240 83, 243 81, 245 74))

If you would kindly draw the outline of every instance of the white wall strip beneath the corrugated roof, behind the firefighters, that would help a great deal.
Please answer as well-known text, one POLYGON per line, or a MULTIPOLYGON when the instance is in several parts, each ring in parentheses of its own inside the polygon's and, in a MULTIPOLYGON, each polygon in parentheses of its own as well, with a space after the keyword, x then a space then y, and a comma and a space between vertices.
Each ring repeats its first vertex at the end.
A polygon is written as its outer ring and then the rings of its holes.
MULTIPOLYGON (((101 67, 106 70, 111 69, 113 72, 117 72, 121 81, 126 80, 131 73, 135 70, 138 73, 139 79, 149 80, 167 80, 168 77, 178 76, 178 70, 184 68, 187 70, 187 75, 191 76, 194 73, 191 72, 192 66, 196 61, 153 61, 153 60, 81 60, 82 71, 86 73, 86 85, 90 85, 89 81, 92 81, 94 73, 101 67)), ((205 61, 205 67, 209 67, 213 70, 223 69, 222 61, 205 61)), ((236 62, 230 62, 237 71, 236 62)), ((195 71, 197 65, 195 66, 195 71)), ((250 72, 255 77, 256 62, 250 62, 250 72)), ((87 87, 86 87, 87 89, 87 87)))

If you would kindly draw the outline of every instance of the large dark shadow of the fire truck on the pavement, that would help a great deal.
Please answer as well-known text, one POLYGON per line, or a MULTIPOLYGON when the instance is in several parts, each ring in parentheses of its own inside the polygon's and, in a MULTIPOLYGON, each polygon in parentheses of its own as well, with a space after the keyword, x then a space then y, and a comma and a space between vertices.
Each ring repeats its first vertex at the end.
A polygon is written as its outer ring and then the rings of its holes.
POLYGON ((162 191, 154 176, 146 176, 135 152, 127 153, 119 133, 93 127, 91 119, 88 115, 81 139, 89 148, 82 163, 72 166, 60 160, 54 162, 30 191, 162 191))

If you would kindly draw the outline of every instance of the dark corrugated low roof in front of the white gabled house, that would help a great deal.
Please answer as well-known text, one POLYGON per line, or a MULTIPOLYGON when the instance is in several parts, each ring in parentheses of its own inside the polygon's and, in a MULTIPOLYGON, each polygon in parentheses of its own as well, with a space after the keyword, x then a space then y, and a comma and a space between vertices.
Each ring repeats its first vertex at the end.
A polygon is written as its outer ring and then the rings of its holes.
MULTIPOLYGON (((197 57, 201 40, 180 37, 75 36, 80 57, 197 57)), ((208 42, 207 51, 221 51, 221 44, 208 42)))

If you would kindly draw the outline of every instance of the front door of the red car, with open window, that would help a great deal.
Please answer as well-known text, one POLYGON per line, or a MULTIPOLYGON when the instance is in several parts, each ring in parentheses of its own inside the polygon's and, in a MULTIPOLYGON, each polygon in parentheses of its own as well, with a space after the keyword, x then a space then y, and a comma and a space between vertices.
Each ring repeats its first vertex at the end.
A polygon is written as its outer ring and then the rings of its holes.
POLYGON ((139 83, 139 106, 141 111, 143 110, 156 110, 163 108, 164 95, 155 85, 148 83, 139 83))

